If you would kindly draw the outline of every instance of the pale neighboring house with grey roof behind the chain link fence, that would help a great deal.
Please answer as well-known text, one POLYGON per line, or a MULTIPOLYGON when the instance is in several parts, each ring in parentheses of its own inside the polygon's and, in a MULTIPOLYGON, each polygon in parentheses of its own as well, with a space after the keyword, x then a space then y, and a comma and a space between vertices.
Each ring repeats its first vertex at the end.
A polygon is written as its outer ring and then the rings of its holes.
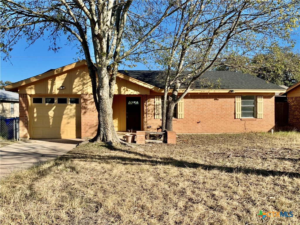
POLYGON ((19 94, 0 89, 0 116, 19 116, 19 94))

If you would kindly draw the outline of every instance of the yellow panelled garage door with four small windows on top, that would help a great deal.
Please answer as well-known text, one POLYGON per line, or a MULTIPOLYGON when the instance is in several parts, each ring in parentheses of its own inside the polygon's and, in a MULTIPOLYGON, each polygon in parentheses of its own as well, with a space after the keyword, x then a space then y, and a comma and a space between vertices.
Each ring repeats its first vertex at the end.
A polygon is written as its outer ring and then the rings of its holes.
POLYGON ((32 138, 80 138, 81 109, 78 97, 32 97, 32 138))

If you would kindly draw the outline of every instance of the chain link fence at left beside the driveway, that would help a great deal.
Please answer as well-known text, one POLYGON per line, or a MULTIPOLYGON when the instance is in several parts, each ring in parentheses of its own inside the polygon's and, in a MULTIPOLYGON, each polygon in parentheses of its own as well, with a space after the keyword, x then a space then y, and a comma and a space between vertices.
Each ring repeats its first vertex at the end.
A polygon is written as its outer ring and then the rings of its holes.
POLYGON ((1 141, 19 140, 19 117, 0 118, 0 140, 1 141))

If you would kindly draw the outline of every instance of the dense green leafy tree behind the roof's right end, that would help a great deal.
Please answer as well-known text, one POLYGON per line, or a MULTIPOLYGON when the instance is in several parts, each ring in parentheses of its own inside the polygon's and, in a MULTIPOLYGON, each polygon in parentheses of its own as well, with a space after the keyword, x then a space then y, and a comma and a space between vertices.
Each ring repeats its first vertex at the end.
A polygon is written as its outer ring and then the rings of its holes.
POLYGON ((243 70, 261 79, 288 87, 300 81, 300 53, 273 44, 253 57, 229 55, 216 70, 243 70))

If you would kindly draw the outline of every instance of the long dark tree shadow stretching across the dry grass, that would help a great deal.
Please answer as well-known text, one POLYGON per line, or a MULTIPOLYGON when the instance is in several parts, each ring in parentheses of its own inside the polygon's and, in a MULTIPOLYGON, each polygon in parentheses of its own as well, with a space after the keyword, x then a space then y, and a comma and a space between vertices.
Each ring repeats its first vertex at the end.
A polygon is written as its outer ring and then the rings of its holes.
POLYGON ((153 166, 171 165, 174 167, 181 167, 181 168, 193 168, 193 169, 201 168, 203 170, 220 170, 226 173, 244 173, 244 174, 255 174, 261 176, 288 176, 288 177, 300 178, 300 173, 294 173, 294 172, 206 165, 206 164, 192 163, 187 161, 180 161, 173 158, 152 157, 139 152, 121 149, 116 146, 104 146, 104 147, 112 151, 126 153, 128 154, 128 157, 107 156, 107 155, 87 155, 80 152, 71 152, 67 155, 62 156, 61 158, 66 160, 82 159, 84 161, 105 162, 105 163, 116 162, 116 163, 129 164, 129 165, 138 165, 138 164, 148 164, 153 166), (136 158, 133 155, 141 158, 136 158))

